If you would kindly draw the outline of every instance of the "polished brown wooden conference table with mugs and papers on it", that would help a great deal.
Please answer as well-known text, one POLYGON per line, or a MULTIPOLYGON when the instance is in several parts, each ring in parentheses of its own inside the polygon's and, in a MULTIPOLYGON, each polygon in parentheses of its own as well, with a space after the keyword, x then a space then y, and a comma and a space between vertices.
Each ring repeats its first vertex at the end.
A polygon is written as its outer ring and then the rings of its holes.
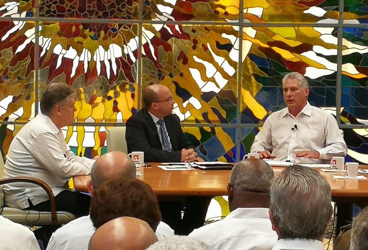
MULTIPOLYGON (((164 171, 152 163, 152 167, 138 167, 142 173, 138 179, 148 183, 155 193, 162 196, 217 196, 227 195, 226 186, 229 182, 230 170, 183 170, 164 171)), ((368 168, 368 166, 359 166, 368 168)), ((273 167, 275 175, 285 167, 273 167)), ((316 168, 320 171, 320 168, 316 168)), ((351 222, 352 203, 368 202, 368 181, 334 179, 333 175, 343 173, 322 172, 332 189, 332 199, 338 205, 337 228, 351 222)), ((368 177, 368 175, 365 175, 368 177)), ((75 176, 74 188, 80 192, 87 192, 86 184, 89 175, 75 176)))

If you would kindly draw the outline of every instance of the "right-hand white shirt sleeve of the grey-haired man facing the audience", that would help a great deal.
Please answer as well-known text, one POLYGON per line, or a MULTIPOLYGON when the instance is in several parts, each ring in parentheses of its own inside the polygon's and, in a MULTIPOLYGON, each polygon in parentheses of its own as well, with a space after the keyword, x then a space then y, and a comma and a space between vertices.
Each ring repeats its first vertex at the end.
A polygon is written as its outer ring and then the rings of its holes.
POLYGON ((326 147, 316 150, 319 152, 319 159, 331 160, 334 156, 346 156, 347 146, 332 114, 327 115, 324 136, 326 138, 326 147))

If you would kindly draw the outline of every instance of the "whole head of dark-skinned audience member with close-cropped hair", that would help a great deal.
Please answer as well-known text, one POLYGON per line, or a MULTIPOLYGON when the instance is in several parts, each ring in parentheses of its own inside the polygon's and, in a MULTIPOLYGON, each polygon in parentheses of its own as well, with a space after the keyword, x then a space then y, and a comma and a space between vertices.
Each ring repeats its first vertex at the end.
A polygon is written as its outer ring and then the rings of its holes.
POLYGON ((228 184, 229 208, 269 207, 273 169, 260 159, 238 162, 231 171, 228 184))

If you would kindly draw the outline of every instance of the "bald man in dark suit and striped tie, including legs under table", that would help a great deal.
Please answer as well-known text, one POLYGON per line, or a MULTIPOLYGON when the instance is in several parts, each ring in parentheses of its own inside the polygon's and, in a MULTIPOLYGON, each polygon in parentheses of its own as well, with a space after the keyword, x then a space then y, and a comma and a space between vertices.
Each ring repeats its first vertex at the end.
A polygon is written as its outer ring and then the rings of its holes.
MULTIPOLYGON (((197 153, 185 137, 179 117, 172 113, 175 102, 170 89, 164 85, 150 85, 143 93, 143 101, 145 107, 127 121, 128 152, 143 151, 145 162, 197 161, 197 153)), ((187 235, 203 226, 210 199, 189 196, 182 201, 160 201, 162 221, 176 234, 187 235), (186 208, 181 219, 183 205, 186 208)))

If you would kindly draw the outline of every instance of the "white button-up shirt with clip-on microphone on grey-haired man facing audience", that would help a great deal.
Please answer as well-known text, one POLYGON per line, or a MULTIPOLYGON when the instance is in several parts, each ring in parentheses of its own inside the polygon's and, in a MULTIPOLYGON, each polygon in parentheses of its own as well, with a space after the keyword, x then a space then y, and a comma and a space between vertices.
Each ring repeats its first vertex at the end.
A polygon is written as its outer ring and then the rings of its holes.
POLYGON ((272 113, 257 134, 251 152, 270 151, 275 160, 296 164, 323 164, 333 156, 345 156, 346 143, 334 116, 308 102, 295 117, 288 108, 272 113), (294 151, 316 150, 319 159, 295 157, 294 151))

